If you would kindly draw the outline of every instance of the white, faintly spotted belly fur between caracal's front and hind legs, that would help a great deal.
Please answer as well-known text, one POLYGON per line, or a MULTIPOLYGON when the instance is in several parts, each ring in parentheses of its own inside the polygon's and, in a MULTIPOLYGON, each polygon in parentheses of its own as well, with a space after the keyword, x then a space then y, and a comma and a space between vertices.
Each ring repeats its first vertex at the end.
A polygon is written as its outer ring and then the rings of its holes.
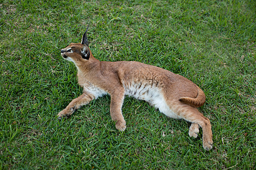
POLYGON ((125 95, 133 96, 136 99, 147 101, 155 108, 158 108, 160 112, 166 114, 168 117, 180 118, 167 105, 166 100, 164 100, 162 90, 154 86, 154 84, 131 84, 131 86, 125 87, 125 95))

